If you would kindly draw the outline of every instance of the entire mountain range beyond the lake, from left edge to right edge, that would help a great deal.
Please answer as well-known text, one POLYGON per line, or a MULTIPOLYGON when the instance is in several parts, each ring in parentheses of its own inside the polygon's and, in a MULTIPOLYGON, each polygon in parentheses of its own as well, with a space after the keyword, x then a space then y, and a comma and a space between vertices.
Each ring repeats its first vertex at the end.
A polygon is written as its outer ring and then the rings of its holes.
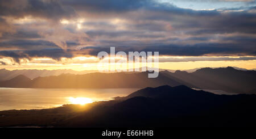
POLYGON ((186 85, 196 89, 224 90, 235 93, 255 93, 256 71, 228 68, 203 68, 187 71, 160 71, 158 78, 147 78, 148 72, 61 74, 32 80, 18 78, 0 82, 0 87, 32 88, 126 88, 186 85))

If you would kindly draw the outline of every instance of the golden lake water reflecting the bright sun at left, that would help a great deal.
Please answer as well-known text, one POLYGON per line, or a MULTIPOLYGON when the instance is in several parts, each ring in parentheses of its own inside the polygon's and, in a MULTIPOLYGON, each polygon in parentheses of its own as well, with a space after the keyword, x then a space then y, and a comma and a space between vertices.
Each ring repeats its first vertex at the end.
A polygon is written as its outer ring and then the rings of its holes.
POLYGON ((127 96, 139 89, 17 89, 0 87, 0 111, 85 104, 127 96))

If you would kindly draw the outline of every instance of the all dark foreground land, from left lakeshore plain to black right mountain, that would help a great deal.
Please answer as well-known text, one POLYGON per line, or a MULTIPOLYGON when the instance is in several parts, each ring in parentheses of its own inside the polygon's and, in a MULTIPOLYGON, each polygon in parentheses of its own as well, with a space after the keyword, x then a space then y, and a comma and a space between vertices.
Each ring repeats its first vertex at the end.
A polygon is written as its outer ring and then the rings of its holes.
POLYGON ((147 87, 109 102, 0 111, 0 127, 255 127, 256 95, 147 87))

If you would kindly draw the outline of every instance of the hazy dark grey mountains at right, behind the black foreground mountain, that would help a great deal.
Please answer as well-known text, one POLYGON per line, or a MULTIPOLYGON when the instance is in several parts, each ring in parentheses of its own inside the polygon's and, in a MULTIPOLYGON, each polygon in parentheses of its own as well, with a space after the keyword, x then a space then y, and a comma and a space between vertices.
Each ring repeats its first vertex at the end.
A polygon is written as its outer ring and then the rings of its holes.
POLYGON ((224 90, 228 92, 246 93, 256 85, 256 71, 236 70, 228 68, 203 68, 193 73, 175 71, 166 73, 167 77, 183 81, 183 85, 198 89, 224 90))

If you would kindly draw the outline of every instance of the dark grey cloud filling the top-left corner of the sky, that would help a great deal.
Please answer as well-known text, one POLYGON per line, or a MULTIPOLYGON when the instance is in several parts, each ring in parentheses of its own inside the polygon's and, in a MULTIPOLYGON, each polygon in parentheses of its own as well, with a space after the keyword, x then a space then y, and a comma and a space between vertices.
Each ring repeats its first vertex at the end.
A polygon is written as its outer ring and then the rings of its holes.
POLYGON ((38 18, 57 20, 61 18, 71 18, 75 16, 75 11, 68 6, 63 6, 55 0, 10 0, 0 1, 0 15, 23 18, 24 16, 34 16, 38 18))

